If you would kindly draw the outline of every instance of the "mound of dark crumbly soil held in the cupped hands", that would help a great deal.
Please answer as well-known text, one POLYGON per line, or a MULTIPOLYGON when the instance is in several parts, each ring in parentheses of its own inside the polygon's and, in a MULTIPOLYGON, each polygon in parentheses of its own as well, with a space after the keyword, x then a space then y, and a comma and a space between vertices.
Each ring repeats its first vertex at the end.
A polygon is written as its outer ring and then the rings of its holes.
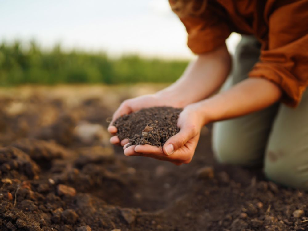
POLYGON ((118 129, 120 140, 129 139, 128 146, 150 144, 162 147, 180 131, 177 119, 183 109, 173 107, 150 107, 119 117, 113 125, 118 129))

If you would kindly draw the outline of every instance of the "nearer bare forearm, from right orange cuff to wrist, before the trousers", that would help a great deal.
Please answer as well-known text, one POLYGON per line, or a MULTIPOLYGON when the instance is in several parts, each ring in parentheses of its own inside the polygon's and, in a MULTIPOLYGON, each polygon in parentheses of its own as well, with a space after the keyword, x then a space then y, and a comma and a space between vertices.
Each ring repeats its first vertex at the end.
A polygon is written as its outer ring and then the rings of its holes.
POLYGON ((281 89, 262 78, 246 79, 227 91, 195 103, 203 115, 203 124, 226 120, 262 110, 277 102, 281 89))

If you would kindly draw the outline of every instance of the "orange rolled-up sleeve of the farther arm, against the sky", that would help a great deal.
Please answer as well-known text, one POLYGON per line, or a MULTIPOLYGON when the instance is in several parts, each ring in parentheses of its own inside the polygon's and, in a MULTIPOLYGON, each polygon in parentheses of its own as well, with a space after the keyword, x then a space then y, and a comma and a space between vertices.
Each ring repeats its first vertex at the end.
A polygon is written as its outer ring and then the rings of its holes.
POLYGON ((225 43, 231 33, 223 18, 213 10, 217 11, 207 6, 199 16, 180 17, 188 33, 187 45, 195 54, 215 50, 225 43))

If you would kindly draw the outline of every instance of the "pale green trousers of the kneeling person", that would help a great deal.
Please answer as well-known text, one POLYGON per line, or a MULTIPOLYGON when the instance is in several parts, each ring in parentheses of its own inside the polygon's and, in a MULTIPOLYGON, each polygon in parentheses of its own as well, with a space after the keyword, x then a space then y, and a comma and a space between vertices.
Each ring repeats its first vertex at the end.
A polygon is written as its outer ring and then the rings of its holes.
MULTIPOLYGON (((252 36, 242 36, 232 75, 222 91, 248 78, 247 73, 259 55, 258 41, 252 36)), ((308 91, 296 108, 276 103, 262 111, 215 123, 213 151, 221 163, 245 166, 263 163, 268 179, 308 189, 308 91)))

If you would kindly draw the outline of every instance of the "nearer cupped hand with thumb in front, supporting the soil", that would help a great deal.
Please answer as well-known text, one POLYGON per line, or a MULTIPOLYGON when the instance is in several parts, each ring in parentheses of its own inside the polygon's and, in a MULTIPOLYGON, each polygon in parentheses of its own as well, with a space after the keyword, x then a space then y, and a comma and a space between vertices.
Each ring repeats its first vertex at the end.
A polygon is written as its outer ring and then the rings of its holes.
POLYGON ((126 156, 147 156, 170 161, 176 165, 188 164, 192 159, 204 124, 204 117, 194 103, 180 113, 177 126, 180 132, 170 137, 162 148, 152 145, 124 146, 126 156))

